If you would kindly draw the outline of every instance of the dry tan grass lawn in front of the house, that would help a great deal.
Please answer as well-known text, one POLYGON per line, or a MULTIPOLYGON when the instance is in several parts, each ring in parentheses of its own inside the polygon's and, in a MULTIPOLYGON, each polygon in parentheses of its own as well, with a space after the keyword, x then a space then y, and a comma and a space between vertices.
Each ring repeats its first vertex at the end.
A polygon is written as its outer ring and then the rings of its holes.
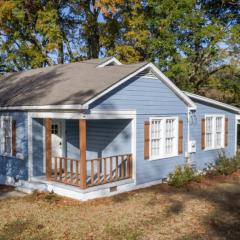
POLYGON ((240 239, 240 173, 88 202, 10 197, 0 200, 0 239, 240 239))

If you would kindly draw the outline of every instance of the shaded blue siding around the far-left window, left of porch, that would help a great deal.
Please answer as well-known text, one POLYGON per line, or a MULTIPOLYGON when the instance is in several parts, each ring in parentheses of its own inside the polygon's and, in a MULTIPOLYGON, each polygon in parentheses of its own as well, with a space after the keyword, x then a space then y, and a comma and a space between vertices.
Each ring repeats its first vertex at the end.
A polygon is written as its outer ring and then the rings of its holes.
POLYGON ((7 157, 0 155, 0 179, 4 183, 5 179, 10 177, 18 180, 28 178, 28 123, 27 113, 25 112, 1 112, 0 115, 12 116, 16 120, 16 150, 18 156, 7 157))

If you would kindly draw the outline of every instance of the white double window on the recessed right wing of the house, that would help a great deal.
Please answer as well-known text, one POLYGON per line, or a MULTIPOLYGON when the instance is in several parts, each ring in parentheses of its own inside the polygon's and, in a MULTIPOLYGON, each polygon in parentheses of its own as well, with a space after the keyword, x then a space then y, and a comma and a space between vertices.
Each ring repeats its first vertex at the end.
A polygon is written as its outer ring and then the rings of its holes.
POLYGON ((224 147, 224 116, 206 116, 206 149, 224 147))

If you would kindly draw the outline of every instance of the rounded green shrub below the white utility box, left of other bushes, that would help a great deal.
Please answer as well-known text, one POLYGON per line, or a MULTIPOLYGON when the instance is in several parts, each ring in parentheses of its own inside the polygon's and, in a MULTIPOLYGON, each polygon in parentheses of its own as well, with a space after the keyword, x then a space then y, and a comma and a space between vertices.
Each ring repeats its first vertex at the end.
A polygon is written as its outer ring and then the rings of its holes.
POLYGON ((193 180, 197 180, 196 171, 189 166, 178 166, 173 173, 169 174, 168 184, 174 187, 183 187, 193 180))

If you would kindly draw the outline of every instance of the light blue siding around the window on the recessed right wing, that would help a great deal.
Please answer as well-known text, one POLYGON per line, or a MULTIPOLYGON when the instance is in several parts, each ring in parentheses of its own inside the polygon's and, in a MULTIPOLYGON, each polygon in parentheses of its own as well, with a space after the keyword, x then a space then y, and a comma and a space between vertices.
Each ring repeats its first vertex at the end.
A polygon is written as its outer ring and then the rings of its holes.
POLYGON ((235 131, 236 131, 236 120, 235 114, 228 112, 224 109, 217 108, 215 106, 208 105, 203 102, 195 102, 197 105, 197 112, 191 116, 190 121, 190 138, 196 140, 197 142, 197 151, 194 154, 191 154, 191 158, 196 164, 198 169, 204 169, 209 164, 215 163, 218 155, 221 152, 229 157, 235 155, 235 131), (221 114, 225 115, 228 118, 228 146, 223 149, 215 150, 202 150, 201 148, 201 119, 205 117, 205 114, 221 114))

